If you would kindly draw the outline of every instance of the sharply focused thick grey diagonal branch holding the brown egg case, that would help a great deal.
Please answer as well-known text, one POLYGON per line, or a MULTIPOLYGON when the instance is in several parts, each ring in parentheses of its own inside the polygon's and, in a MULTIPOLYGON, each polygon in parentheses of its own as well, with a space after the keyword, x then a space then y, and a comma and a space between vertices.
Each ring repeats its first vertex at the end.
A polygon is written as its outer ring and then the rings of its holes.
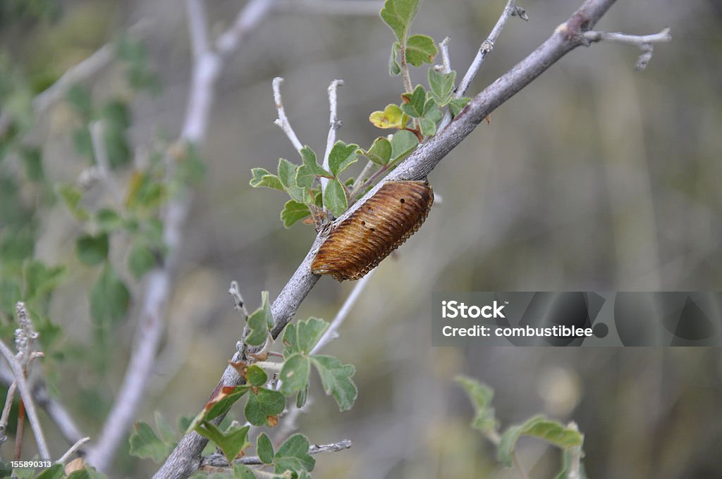
MULTIPOLYGON (((370 195, 373 195, 388 180, 421 180, 426 177, 441 159, 460 144, 466 136, 469 136, 469 133, 474 131, 474 128, 493 110, 516 95, 562 56, 579 46, 588 45, 589 40, 584 38, 584 32, 593 28, 612 4, 614 4, 614 0, 586 0, 565 23, 557 27, 557 30, 539 48, 536 48, 529 56, 474 97, 446 128, 432 137, 430 141, 419 146, 414 153, 399 164, 396 170, 380 181, 375 188, 372 188, 364 198, 357 201, 336 221, 344 221, 353 214, 370 195)), ((282 333, 295 315, 300 303, 320 278, 310 272, 310 264, 323 239, 323 233, 316 237, 303 262, 271 305, 271 312, 274 316, 271 335, 274 338, 282 333)), ((235 353, 232 361, 243 360, 244 355, 245 348, 242 348, 235 353)), ((241 378, 238 372, 231 366, 227 367, 212 397, 222 387, 235 386, 240 382, 241 378)), ((195 432, 184 436, 165 465, 154 476, 155 479, 186 478, 191 475, 199 465, 201 450, 206 442, 206 439, 195 432)))

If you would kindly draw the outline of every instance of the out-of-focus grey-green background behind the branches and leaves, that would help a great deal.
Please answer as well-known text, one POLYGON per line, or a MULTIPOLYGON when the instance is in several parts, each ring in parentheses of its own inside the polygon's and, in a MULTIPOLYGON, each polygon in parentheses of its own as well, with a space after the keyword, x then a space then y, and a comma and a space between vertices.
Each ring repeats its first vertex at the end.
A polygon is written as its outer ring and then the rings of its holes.
MULTIPOLYGON (((242 3, 206 1, 212 32, 227 27, 242 3)), ((536 48, 580 0, 519 3, 530 21, 510 20, 470 94, 536 48)), ((463 73, 503 4, 427 0, 415 30, 437 41, 450 36, 452 67, 463 73)), ((129 145, 141 154, 159 132, 177 136, 186 105, 190 51, 184 9, 175 0, 3 0, 0 86, 17 79, 25 100, 32 98, 141 19, 162 92, 131 92, 119 66, 86 83, 95 98, 131 102, 129 145)), ((430 291, 722 289, 722 4, 618 2, 598 28, 645 34, 665 26, 674 40, 657 45, 646 71, 634 70, 638 50, 631 47, 575 50, 432 172, 443 203, 380 266, 328 348, 357 367, 355 408, 338 413, 316 384, 313 407, 300 418, 312 442, 354 443, 317 457, 315 477, 509 477, 468 426, 471 406, 453 384, 459 372, 495 388, 497 416, 507 423, 534 413, 577 421, 591 478, 722 477, 716 348, 430 347, 430 291)), ((154 410, 171 420, 196 413, 242 330, 226 292, 230 280, 239 281, 253 309, 261 290, 278 294, 313 240, 312 227, 283 229, 284 195, 248 186, 251 167, 274 170, 279 157, 295 155, 273 124, 271 79, 284 77, 290 121, 316 151, 326 141, 326 86, 344 79, 339 139, 369 145, 381 134, 369 113, 397 102, 401 92, 399 79, 387 73, 392 40, 377 17, 296 10, 272 14, 232 57, 217 84, 200 151, 206 177, 186 226, 167 340, 139 418, 152 420, 154 410)), ((412 82, 422 81, 422 70, 412 71, 412 82)), ((87 167, 74 148, 76 126, 63 102, 32 126, 50 185, 72 183, 87 167)), ((28 212, 38 195, 52 195, 52 188, 42 193, 33 183, 3 181, 0 197, 18 191, 28 212)), ((121 270, 134 302, 128 320, 113 325, 112 360, 103 367, 79 361, 88 357, 87 295, 97 272, 74 258, 77 221, 60 202, 24 219, 11 204, 0 203, 0 229, 30 221, 35 256, 72 266, 49 304, 49 317, 64 328, 55 346, 63 359, 46 374, 84 432, 95 436, 126 367, 142 285, 121 270)), ((352 287, 322 278, 297 317, 331 320, 352 287)), ((64 452, 52 426, 46 433, 51 452, 64 452)), ((552 476, 556 452, 534 441, 520 447, 532 478, 552 476)), ((144 477, 156 467, 125 452, 119 457, 118 477, 144 477)))

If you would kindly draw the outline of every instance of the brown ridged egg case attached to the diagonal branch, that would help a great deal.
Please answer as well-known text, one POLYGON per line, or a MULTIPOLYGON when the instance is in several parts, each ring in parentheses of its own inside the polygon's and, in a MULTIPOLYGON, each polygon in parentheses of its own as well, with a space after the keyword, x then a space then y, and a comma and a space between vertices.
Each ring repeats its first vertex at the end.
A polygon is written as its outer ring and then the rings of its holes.
POLYGON ((359 279, 421 227, 434 202, 425 181, 389 181, 336 225, 311 264, 311 272, 339 281, 359 279))

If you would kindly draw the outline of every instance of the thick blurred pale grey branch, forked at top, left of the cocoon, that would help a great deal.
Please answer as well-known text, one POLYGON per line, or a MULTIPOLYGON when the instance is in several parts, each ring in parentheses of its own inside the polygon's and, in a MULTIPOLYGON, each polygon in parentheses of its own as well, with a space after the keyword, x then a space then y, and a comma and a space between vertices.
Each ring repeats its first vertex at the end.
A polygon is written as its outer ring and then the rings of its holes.
MULTIPOLYGON (((209 47, 202 0, 188 0, 188 31, 193 43, 193 72, 188 89, 188 105, 183 121, 179 144, 199 144, 208 131, 210 111, 214 99, 215 83, 220 75, 222 59, 238 48, 245 35, 266 17, 273 0, 253 0, 245 5, 230 30, 221 35, 218 52, 209 47), (198 14, 198 12, 202 12, 198 14)), ((170 155, 168 155, 170 157, 170 155)), ((167 161, 168 177, 175 162, 167 161)), ((178 259, 183 225, 188 217, 191 195, 179 195, 168 203, 163 215, 163 239, 168 249, 165 261, 147 275, 145 296, 139 313, 134 338, 134 349, 123 377, 121 390, 116 396, 95 447, 87 454, 87 462, 98 470, 107 470, 115 457, 118 446, 125 438, 136 411, 144 399, 144 392, 155 365, 157 348, 163 332, 163 314, 172 291, 173 272, 178 259)))

